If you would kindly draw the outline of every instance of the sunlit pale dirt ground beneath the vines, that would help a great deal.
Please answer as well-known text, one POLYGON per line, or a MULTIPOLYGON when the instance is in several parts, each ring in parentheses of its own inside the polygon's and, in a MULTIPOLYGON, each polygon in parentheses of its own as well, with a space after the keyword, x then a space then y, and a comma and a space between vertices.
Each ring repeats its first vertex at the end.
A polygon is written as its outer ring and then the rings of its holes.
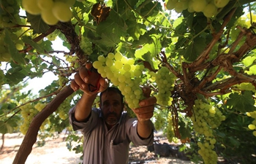
MULTIPOLYGON (((26 164, 79 164, 81 154, 69 152, 64 141, 64 134, 59 138, 48 139, 44 147, 37 147, 34 144, 31 154, 26 160, 26 164)), ((11 164, 23 141, 23 135, 20 133, 6 134, 4 140, 4 149, 0 152, 0 163, 11 164)), ((2 140, 0 140, 0 146, 2 140)), ((129 152, 130 163, 172 163, 189 164, 187 160, 180 160, 175 157, 158 157, 154 152, 148 152, 147 147, 131 147, 129 152), (136 161, 136 162, 134 162, 136 161), (144 162, 139 162, 144 161, 144 162)))

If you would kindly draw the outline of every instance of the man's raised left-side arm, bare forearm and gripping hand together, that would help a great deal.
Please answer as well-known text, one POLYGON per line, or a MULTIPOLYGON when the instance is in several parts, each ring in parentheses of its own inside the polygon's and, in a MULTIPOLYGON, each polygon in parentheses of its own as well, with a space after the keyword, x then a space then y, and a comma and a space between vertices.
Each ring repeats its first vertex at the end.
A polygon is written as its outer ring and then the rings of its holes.
POLYGON ((91 106, 97 96, 97 93, 104 91, 108 87, 108 79, 100 77, 100 75, 91 71, 91 64, 86 64, 86 66, 81 67, 79 72, 75 74, 75 79, 71 82, 71 87, 73 90, 82 90, 83 95, 75 106, 75 120, 78 122, 84 122, 91 113, 91 106), (99 82, 99 88, 97 84, 99 82), (93 85, 94 87, 90 87, 93 85), (94 90, 95 89, 95 90, 94 90))

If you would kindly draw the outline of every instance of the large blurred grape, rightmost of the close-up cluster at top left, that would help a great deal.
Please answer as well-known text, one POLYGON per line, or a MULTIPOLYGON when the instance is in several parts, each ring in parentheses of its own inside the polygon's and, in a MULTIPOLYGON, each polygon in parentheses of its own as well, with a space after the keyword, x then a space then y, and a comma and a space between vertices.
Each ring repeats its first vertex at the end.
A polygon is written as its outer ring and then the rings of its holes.
POLYGON ((52 11, 53 15, 61 22, 68 22, 72 18, 69 5, 62 1, 54 1, 52 11))

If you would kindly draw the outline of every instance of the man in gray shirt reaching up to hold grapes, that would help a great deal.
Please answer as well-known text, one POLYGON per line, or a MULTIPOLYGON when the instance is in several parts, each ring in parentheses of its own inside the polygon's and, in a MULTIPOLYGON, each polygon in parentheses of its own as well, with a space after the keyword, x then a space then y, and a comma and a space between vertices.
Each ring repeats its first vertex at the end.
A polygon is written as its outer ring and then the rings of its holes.
POLYGON ((83 95, 69 111, 69 122, 74 130, 83 133, 83 164, 128 163, 129 143, 136 146, 151 145, 154 126, 150 120, 157 100, 150 97, 151 90, 143 88, 146 99, 140 101, 138 109, 132 109, 137 119, 130 119, 124 110, 123 95, 115 87, 108 87, 91 65, 86 65, 75 74, 71 82, 73 90, 83 90, 83 95), (86 69, 87 67, 87 69, 86 69), (99 85, 97 85, 99 84, 99 85), (97 87, 93 90, 91 87, 97 87), (91 109, 99 95, 99 109, 91 109))

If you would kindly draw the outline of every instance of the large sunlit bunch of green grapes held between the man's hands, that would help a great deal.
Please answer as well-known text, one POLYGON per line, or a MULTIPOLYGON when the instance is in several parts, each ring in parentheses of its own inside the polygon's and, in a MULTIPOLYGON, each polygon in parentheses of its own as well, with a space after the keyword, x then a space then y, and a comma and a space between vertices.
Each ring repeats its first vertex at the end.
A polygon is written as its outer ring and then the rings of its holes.
POLYGON ((93 66, 102 77, 107 77, 113 85, 118 86, 130 109, 139 107, 139 101, 143 99, 140 87, 143 65, 135 64, 133 58, 127 58, 120 52, 110 52, 106 58, 100 55, 93 66))

